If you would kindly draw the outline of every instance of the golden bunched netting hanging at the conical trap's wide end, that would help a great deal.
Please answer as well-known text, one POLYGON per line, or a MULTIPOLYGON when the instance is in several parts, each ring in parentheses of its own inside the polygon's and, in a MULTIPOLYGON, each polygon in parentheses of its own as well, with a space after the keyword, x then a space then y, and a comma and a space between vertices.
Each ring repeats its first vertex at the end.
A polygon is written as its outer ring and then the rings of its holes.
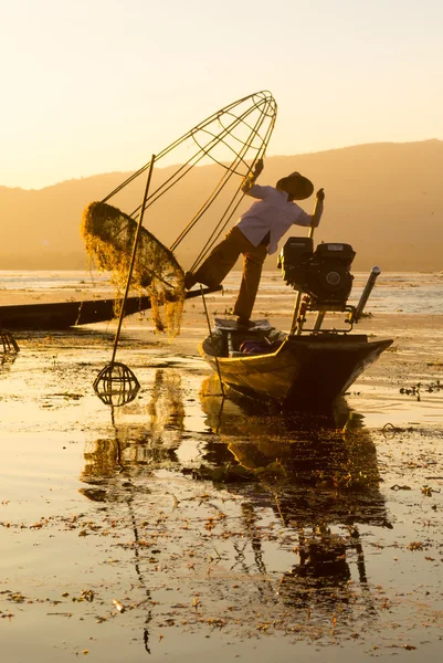
MULTIPOLYGON (((105 202, 92 202, 83 212, 81 234, 87 254, 97 270, 110 272, 117 296, 126 286, 137 227, 134 219, 105 202)), ((184 303, 184 274, 173 253, 145 228, 137 243, 131 287, 150 296, 156 329, 177 336, 184 303)))

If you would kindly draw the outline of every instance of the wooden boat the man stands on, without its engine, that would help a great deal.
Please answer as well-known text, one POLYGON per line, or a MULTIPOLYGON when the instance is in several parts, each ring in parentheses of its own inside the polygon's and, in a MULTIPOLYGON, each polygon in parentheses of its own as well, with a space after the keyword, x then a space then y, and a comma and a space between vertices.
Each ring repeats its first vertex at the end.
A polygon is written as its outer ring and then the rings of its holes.
POLYGON ((267 320, 245 330, 235 320, 217 318, 200 354, 241 393, 316 409, 331 406, 391 344, 369 341, 363 334, 284 334, 267 320))

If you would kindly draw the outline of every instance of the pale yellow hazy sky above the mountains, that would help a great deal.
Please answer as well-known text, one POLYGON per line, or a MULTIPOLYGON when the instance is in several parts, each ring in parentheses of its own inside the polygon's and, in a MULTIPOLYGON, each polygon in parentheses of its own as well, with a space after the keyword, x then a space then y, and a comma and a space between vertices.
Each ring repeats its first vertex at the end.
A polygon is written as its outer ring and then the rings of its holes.
POLYGON ((267 155, 443 138, 441 0, 0 0, 0 186, 135 170, 270 90, 267 155))

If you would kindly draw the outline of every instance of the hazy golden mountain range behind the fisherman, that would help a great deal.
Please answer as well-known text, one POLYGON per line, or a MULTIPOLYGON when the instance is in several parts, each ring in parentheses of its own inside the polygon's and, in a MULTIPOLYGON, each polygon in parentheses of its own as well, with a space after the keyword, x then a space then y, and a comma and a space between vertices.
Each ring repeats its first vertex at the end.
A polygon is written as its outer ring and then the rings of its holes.
MULTIPOLYGON (((172 169, 155 169, 152 186, 172 169)), ((259 182, 274 185, 294 170, 312 179, 316 189, 325 188, 325 213, 315 240, 351 244, 357 252, 355 270, 375 264, 382 271, 443 270, 442 140, 358 145, 268 157, 259 182)), ((129 175, 98 175, 40 190, 0 187, 0 269, 84 269, 87 260, 80 236, 82 211, 88 202, 105 198, 129 175)), ((147 210, 145 225, 170 245, 219 178, 220 166, 196 167, 147 210)), ((131 185, 109 202, 131 213, 141 201, 144 186, 141 181, 131 185)), ((246 198, 233 221, 250 203, 246 198)), ((314 197, 300 206, 309 212, 314 197)), ((209 234, 222 209, 222 203, 211 207, 203 227, 200 222, 199 230, 181 245, 178 259, 184 269, 192 264, 202 235, 209 234)), ((294 227, 287 236, 296 234, 306 231, 294 227)), ((275 262, 271 256, 266 269, 275 262)))

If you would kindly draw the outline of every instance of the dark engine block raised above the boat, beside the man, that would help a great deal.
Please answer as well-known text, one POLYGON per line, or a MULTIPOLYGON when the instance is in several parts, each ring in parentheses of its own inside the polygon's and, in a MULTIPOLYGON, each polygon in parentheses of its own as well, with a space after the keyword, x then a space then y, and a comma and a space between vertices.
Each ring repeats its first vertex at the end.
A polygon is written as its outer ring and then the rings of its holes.
POLYGON ((355 255, 350 244, 324 242, 314 251, 312 238, 289 238, 277 266, 286 285, 308 294, 313 304, 345 308, 352 288, 355 255))

